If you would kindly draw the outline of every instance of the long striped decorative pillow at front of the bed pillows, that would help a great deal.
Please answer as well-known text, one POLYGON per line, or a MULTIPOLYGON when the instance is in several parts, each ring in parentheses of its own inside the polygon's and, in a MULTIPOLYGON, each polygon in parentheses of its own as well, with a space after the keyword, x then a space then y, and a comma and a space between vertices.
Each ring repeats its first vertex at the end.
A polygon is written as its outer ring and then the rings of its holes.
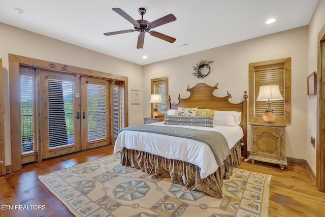
POLYGON ((201 127, 213 128, 213 115, 211 116, 165 115, 164 125, 201 126, 201 127))

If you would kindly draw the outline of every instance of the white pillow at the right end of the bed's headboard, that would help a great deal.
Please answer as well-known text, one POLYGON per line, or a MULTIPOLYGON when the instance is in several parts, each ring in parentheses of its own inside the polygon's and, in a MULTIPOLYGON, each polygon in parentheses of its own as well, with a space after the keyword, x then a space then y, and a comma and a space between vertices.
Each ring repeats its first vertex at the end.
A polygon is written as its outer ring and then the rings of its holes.
POLYGON ((240 124, 241 112, 237 111, 215 111, 214 112, 214 125, 231 126, 235 127, 240 124))

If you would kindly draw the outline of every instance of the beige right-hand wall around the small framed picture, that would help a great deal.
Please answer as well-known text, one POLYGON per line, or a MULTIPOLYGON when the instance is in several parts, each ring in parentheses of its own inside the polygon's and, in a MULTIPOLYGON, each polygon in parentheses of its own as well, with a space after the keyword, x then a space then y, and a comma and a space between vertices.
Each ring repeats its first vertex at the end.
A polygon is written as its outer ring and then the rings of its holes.
MULTIPOLYGON (((308 31, 308 70, 305 74, 317 72, 317 45, 319 30, 325 25, 325 0, 320 0, 309 23, 308 31)), ((316 174, 316 148, 310 145, 310 136, 317 137, 317 96, 308 97, 308 118, 306 138, 306 160, 316 174)), ((317 145, 317 144, 315 144, 317 145)))

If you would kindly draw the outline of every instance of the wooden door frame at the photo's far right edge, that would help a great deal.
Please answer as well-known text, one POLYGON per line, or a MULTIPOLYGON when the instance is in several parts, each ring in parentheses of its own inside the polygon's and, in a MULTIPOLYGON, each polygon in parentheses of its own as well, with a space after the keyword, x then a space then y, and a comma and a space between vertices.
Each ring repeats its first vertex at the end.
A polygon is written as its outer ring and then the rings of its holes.
POLYGON ((325 25, 319 31, 317 44, 316 187, 325 192, 325 25))

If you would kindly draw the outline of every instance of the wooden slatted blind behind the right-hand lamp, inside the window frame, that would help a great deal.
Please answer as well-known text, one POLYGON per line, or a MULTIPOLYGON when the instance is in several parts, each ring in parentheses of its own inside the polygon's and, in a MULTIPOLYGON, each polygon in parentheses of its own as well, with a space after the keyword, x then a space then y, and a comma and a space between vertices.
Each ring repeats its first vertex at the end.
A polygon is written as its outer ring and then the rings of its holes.
POLYGON ((264 110, 267 108, 266 102, 256 101, 259 92, 259 86, 267 84, 278 84, 283 100, 272 101, 271 108, 277 117, 284 118, 284 64, 271 66, 254 67, 254 103, 255 117, 262 117, 264 110))

